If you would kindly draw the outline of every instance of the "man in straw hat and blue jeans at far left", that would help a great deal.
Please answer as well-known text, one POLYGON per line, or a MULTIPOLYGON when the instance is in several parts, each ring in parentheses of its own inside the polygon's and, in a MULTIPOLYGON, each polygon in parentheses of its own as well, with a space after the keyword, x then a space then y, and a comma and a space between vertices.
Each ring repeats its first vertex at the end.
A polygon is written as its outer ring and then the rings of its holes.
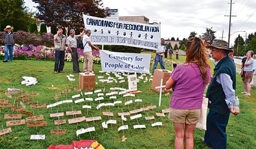
POLYGON ((14 28, 10 25, 7 25, 4 29, 4 45, 5 45, 5 56, 3 62, 8 62, 8 60, 11 62, 13 61, 13 49, 14 49, 14 43, 15 43, 15 37, 13 31, 14 28), (8 57, 9 52, 9 57, 8 57))

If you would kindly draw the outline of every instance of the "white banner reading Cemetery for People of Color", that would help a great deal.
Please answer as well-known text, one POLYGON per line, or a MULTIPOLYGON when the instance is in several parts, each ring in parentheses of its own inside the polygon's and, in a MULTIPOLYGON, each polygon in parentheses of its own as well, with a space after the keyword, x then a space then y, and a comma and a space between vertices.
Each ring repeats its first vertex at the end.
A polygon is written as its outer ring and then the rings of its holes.
POLYGON ((121 53, 100 50, 102 71, 150 73, 149 54, 121 53))

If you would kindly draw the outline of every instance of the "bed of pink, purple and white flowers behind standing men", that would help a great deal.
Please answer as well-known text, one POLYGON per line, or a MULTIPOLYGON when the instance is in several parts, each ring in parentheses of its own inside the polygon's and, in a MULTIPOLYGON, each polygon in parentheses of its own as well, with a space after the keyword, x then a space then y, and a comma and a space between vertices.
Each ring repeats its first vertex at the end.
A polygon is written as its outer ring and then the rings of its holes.
MULTIPOLYGON (((83 50, 78 48, 78 60, 83 62, 83 50)), ((14 59, 26 60, 54 60, 55 59, 55 50, 54 48, 49 48, 46 46, 33 46, 33 45, 17 45, 14 46, 14 59)), ((4 57, 4 46, 0 47, 0 57, 4 57)), ((70 62, 71 53, 69 50, 65 51, 65 60, 70 62)), ((92 60, 94 63, 100 63, 100 52, 92 51, 92 60)))

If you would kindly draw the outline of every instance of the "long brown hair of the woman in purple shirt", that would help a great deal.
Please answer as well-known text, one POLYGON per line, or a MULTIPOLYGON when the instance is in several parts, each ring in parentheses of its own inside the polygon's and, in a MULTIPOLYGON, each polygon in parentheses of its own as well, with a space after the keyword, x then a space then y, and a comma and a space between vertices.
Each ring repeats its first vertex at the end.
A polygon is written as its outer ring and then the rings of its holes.
POLYGON ((186 45, 186 63, 196 63, 200 69, 200 74, 203 78, 203 83, 210 82, 207 69, 210 67, 207 57, 208 52, 205 49, 204 43, 198 37, 188 39, 186 45))

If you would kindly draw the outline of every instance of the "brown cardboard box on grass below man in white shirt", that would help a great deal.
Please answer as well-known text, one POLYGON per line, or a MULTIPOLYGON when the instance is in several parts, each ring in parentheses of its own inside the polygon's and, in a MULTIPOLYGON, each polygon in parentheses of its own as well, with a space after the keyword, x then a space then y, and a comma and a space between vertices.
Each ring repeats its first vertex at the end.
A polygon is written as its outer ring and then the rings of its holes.
POLYGON ((95 89, 95 74, 79 73, 79 88, 84 90, 95 89))

